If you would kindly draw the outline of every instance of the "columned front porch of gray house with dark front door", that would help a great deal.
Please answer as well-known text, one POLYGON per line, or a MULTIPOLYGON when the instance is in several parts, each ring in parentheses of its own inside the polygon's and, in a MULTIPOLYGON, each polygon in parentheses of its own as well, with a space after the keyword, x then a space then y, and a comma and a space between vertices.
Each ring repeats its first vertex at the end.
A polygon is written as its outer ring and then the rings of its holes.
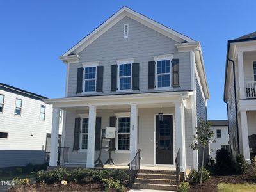
MULTIPOLYGON (((94 168, 95 160, 99 157, 100 136, 110 125, 117 129, 111 152, 115 166, 104 168, 128 168, 127 164, 134 159, 138 148, 141 149, 141 169, 175 170, 178 149, 180 149, 181 171, 194 168, 193 163, 189 162, 193 160, 192 150, 188 151, 189 161, 187 161, 190 164, 186 166, 188 143, 185 141, 185 117, 188 115, 188 109, 191 108, 188 92, 156 95, 150 93, 136 97, 134 95, 95 97, 51 100, 54 104, 51 141, 53 145, 51 145, 49 166, 57 166, 57 145, 54 143, 58 140, 54 133, 58 132, 56 119, 58 119, 58 111, 62 109, 65 111, 65 124, 61 146, 68 147, 69 150, 68 160, 65 159, 64 163, 62 161, 60 166, 94 168), (99 97, 100 100, 95 97, 99 97), (104 99, 108 100, 102 102, 104 99), (157 115, 160 111, 164 114, 163 123, 158 122, 157 115), (79 126, 76 125, 77 118, 81 119, 79 126), (76 129, 79 129, 79 136, 76 136, 76 129)), ((189 141, 191 139, 189 138, 189 141)), ((108 141, 102 144, 103 147, 106 145, 109 145, 108 141)), ((108 159, 108 151, 102 150, 103 163, 106 159, 108 159)))

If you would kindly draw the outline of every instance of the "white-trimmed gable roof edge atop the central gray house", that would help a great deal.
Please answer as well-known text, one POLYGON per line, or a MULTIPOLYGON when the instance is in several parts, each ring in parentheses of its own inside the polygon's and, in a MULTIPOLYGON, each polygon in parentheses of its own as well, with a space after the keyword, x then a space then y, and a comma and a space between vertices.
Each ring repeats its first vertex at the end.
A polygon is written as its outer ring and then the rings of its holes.
MULTIPOLYGON (((70 54, 79 54, 79 52, 83 51, 88 45, 92 44, 93 41, 97 40, 99 36, 108 31, 112 26, 114 26, 118 21, 122 20, 124 17, 130 17, 141 24, 144 24, 148 28, 154 29, 155 31, 172 38, 177 42, 195 42, 195 40, 189 38, 188 36, 182 35, 181 33, 164 26, 163 24, 159 24, 145 15, 141 15, 126 6, 122 7, 118 12, 109 17, 105 22, 100 24, 98 28, 96 28, 92 33, 85 36, 81 41, 79 41, 76 45, 74 45, 71 49, 65 52, 61 57, 69 56, 70 54)), ((60 58, 61 58, 60 57, 60 58)))

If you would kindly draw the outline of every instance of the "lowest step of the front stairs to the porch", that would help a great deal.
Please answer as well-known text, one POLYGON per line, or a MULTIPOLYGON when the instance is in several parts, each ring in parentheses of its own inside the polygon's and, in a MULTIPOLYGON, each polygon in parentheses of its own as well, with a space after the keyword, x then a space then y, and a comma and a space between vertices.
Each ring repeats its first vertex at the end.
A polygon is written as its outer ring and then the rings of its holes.
POLYGON ((132 184, 132 188, 136 189, 154 189, 154 190, 165 190, 165 191, 175 191, 175 185, 168 185, 168 184, 141 184, 135 182, 132 184))

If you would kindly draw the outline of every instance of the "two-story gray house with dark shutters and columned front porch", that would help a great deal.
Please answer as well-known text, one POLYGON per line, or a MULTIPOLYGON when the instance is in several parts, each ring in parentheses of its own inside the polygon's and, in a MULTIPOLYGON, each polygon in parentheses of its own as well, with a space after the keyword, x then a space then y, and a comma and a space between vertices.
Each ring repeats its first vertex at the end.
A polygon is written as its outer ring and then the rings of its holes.
POLYGON ((60 59, 66 95, 45 99, 54 107, 49 166, 57 162, 62 109, 65 164, 93 168, 102 131, 111 126, 116 165, 127 166, 140 149, 141 166, 175 168, 180 150, 181 171, 198 169, 190 145, 209 99, 200 42, 123 7, 60 59))

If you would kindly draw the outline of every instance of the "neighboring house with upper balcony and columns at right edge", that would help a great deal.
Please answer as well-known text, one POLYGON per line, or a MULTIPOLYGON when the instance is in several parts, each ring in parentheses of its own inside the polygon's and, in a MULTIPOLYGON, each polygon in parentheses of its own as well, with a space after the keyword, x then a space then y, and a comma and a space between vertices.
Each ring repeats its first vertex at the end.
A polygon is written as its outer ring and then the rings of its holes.
POLYGON ((256 154, 256 32, 228 41, 224 101, 232 154, 256 154))

